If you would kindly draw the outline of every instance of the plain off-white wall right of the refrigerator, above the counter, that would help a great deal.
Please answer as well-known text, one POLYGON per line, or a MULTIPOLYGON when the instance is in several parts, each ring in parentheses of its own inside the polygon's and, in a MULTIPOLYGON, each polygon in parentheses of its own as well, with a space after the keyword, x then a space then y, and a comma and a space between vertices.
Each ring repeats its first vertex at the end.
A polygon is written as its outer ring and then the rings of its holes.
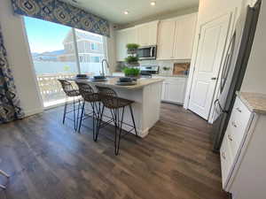
POLYGON ((266 3, 262 1, 262 10, 258 21, 252 52, 246 68, 241 91, 266 94, 266 3))

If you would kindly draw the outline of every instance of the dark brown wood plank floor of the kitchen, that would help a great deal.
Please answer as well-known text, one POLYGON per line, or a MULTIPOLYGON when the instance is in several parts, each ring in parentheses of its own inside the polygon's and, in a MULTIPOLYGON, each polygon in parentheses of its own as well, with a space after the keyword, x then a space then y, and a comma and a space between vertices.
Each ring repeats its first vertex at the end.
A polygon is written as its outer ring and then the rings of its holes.
POLYGON ((93 142, 90 129, 75 134, 71 121, 62 125, 62 111, 0 126, 0 169, 12 175, 0 199, 229 198, 211 126, 190 111, 163 103, 150 134, 129 134, 118 157, 106 137, 93 142))

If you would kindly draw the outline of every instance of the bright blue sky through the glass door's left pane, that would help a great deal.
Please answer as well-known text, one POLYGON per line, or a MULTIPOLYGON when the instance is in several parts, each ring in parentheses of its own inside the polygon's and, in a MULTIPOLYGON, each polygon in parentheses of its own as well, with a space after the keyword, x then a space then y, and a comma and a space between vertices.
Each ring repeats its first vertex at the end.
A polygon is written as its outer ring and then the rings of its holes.
POLYGON ((63 40, 71 27, 41 19, 25 17, 27 38, 32 53, 63 50, 63 40))

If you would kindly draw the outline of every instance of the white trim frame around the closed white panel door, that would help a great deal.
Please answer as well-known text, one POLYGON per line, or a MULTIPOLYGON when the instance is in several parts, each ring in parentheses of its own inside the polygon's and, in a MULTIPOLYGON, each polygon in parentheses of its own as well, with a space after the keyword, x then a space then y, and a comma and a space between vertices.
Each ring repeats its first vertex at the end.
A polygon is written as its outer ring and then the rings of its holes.
MULTIPOLYGON (((186 89, 186 95, 185 95, 185 99, 184 99, 184 109, 188 110, 189 108, 189 104, 190 104, 190 101, 191 101, 191 95, 192 95, 192 83, 193 83, 193 80, 195 78, 195 70, 196 70, 196 63, 198 61, 198 53, 199 53, 199 44, 200 44, 200 33, 201 33, 201 30, 202 30, 202 27, 205 26, 207 23, 210 23, 216 19, 219 19, 219 18, 222 18, 226 15, 229 15, 230 17, 230 22, 229 22, 229 29, 228 29, 228 34, 227 34, 227 38, 226 38, 226 43, 225 43, 225 48, 224 50, 226 50, 226 47, 229 45, 229 42, 228 42, 228 38, 230 38, 232 32, 233 32, 233 27, 235 26, 235 23, 236 23, 236 18, 237 18, 237 13, 238 13, 238 8, 235 8, 233 11, 227 11, 219 16, 216 16, 215 18, 207 21, 207 22, 204 22, 200 25, 198 25, 198 28, 197 28, 197 38, 196 38, 196 41, 194 43, 194 49, 193 49, 193 55, 192 55, 192 67, 190 68, 190 74, 189 74, 189 78, 188 78, 188 83, 187 83, 187 89, 186 89)), ((220 68, 219 68, 219 73, 218 73, 218 80, 216 80, 216 84, 215 84, 215 92, 214 92, 214 96, 213 96, 213 99, 212 99, 212 105, 211 105, 211 108, 209 110, 209 113, 208 113, 208 119, 207 119, 207 122, 210 123, 210 124, 213 124, 214 122, 214 119, 213 119, 213 115, 214 115, 214 99, 215 97, 218 96, 218 89, 217 89, 217 86, 218 86, 218 82, 221 78, 221 69, 223 67, 223 62, 224 62, 224 50, 223 50, 223 57, 222 57, 222 61, 221 61, 221 65, 220 65, 220 68), (212 116, 212 117, 210 117, 212 116)))

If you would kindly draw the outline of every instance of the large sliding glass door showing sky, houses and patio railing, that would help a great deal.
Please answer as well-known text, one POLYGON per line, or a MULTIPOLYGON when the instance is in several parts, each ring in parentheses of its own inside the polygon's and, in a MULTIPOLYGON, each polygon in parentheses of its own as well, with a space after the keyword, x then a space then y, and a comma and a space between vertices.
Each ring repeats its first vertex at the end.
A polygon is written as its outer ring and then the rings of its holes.
POLYGON ((65 94, 59 78, 74 77, 77 73, 98 75, 101 72, 100 61, 106 57, 104 36, 41 19, 24 19, 44 107, 64 102, 65 94), (90 43, 93 44, 90 46, 90 43), (103 48, 98 49, 98 43, 103 48), (97 56, 90 47, 98 50, 97 56))

